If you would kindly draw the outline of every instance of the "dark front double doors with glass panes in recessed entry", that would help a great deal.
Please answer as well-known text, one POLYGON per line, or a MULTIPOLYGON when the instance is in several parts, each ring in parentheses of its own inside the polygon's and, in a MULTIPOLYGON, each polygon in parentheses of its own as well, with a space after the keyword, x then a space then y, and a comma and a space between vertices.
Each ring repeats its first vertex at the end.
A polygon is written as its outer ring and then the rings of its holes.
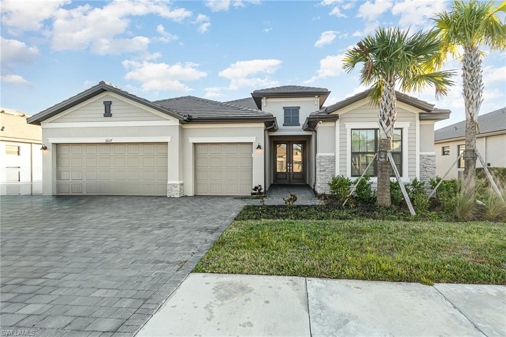
POLYGON ((274 142, 274 183, 306 184, 306 142, 274 142))

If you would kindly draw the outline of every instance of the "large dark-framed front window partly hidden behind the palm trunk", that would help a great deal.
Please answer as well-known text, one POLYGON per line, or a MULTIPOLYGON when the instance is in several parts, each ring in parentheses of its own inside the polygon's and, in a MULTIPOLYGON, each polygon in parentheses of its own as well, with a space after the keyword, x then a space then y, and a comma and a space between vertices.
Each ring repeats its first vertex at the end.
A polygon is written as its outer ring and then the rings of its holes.
MULTIPOLYGON (((360 177, 367 165, 371 162, 374 153, 377 152, 378 129, 354 129, 351 131, 351 176, 360 177)), ((394 130, 392 140, 392 157, 395 165, 402 176, 402 129, 394 130)), ((377 176, 377 160, 374 159, 367 173, 371 177, 377 176)), ((390 176, 395 176, 394 170, 390 170, 390 176)))

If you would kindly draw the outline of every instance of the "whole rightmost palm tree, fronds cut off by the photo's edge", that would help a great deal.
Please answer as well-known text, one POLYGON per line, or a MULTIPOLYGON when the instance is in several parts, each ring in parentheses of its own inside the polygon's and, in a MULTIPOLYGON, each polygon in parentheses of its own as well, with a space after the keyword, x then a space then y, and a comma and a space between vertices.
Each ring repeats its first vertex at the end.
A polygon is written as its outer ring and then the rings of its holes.
POLYGON ((462 56, 462 94, 466 107, 466 150, 464 151, 464 180, 474 191, 476 177, 477 118, 483 102, 482 47, 503 51, 506 47, 506 25, 498 12, 506 12, 506 2, 495 7, 494 2, 455 1, 448 13, 438 14, 435 32, 441 41, 441 61, 448 54, 462 56), (459 47, 463 55, 459 55, 459 47))

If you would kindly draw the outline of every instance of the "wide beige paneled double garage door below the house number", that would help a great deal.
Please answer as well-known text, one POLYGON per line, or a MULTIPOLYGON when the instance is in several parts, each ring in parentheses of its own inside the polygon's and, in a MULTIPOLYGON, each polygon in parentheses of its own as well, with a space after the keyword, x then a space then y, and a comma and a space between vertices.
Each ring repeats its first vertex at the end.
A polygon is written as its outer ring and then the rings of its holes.
POLYGON ((167 144, 58 144, 58 194, 167 195, 167 144))

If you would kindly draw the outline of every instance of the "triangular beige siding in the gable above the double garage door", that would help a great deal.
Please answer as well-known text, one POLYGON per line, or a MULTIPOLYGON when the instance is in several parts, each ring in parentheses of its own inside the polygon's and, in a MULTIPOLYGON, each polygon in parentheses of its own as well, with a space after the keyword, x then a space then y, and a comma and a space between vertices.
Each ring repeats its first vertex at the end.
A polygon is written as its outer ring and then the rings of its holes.
POLYGON ((94 122, 94 121, 126 121, 126 120, 164 120, 166 118, 146 111, 129 102, 120 100, 110 94, 62 114, 54 123, 62 122, 94 122), (111 117, 104 117, 104 101, 111 102, 111 117))

